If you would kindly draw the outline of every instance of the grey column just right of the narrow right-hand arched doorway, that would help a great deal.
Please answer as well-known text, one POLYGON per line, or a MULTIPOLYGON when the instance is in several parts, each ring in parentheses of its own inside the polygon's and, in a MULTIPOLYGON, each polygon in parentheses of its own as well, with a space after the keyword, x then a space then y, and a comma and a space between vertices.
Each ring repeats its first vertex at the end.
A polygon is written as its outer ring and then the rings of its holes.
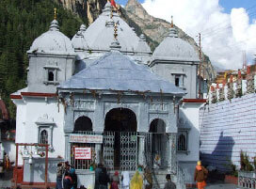
POLYGON ((176 137, 177 134, 168 134, 168 171, 171 173, 176 173, 176 137))

